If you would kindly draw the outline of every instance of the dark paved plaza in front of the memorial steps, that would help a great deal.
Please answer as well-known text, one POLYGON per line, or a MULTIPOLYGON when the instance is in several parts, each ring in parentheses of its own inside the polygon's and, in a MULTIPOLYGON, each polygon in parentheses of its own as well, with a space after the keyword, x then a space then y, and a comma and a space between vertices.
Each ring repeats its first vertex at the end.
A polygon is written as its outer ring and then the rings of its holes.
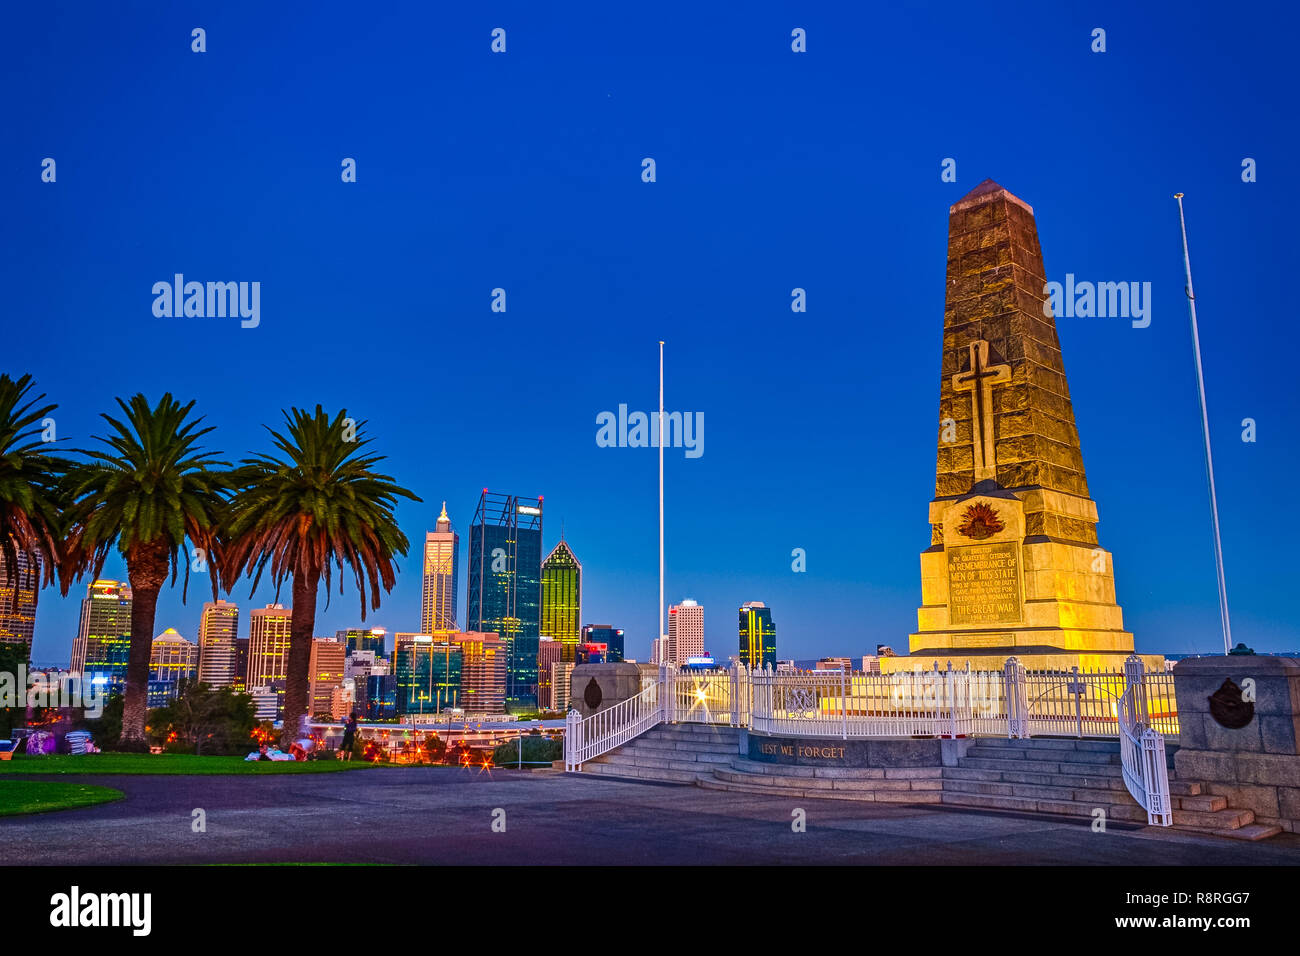
POLYGON ((792 800, 558 771, 58 779, 116 787, 126 799, 0 818, 0 865, 1300 865, 1300 835, 1292 834, 1253 844, 1134 825, 1097 834, 1091 821, 792 800), (790 827, 796 806, 807 814, 806 832, 790 827), (207 832, 192 831, 195 809, 204 810, 207 832), (504 832, 493 830, 498 809, 504 832))

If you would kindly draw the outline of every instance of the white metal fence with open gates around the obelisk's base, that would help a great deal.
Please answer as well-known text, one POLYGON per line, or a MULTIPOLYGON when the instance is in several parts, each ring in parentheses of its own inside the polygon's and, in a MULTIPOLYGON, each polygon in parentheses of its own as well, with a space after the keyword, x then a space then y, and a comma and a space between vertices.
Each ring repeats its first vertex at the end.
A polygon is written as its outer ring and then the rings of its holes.
POLYGON ((967 665, 889 674, 659 669, 641 693, 582 718, 569 711, 564 765, 578 769, 662 722, 716 723, 758 734, 840 737, 1118 737, 1124 783, 1152 823, 1170 825, 1165 734, 1178 734, 1174 678, 1123 670, 1000 671, 967 665))

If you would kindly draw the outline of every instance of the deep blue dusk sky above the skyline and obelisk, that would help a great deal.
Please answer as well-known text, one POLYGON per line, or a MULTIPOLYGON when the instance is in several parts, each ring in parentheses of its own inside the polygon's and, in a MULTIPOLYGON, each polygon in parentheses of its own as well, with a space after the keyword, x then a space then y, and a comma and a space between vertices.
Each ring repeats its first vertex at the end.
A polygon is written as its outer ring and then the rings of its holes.
MULTIPOLYGON (((198 399, 229 458, 265 450, 283 407, 368 419, 424 498, 399 510, 412 549, 369 618, 390 631, 417 627, 442 499, 464 546, 480 489, 542 494, 547 549, 563 520, 584 563, 584 618, 645 656, 655 455, 598 447, 595 418, 654 407, 663 338, 668 408, 706 424, 702 457, 667 455, 668 600, 705 605, 720 656, 750 600, 772 606, 781 657, 902 648, 928 545, 948 207, 991 177, 1034 206, 1049 278, 1152 282, 1149 328, 1058 329, 1126 624, 1141 650, 1213 652, 1182 190, 1234 637, 1300 645, 1279 514, 1300 470, 1292 9, 606 7, 12 9, 0 368, 36 377, 73 446, 140 390, 198 399), (152 285, 178 272, 261 282, 261 324, 155 317, 152 285)), ((66 661, 79 596, 42 594, 35 659, 66 661)), ((165 592, 156 630, 194 637, 200 605, 165 592)), ((356 623, 348 588, 317 632, 356 623)))

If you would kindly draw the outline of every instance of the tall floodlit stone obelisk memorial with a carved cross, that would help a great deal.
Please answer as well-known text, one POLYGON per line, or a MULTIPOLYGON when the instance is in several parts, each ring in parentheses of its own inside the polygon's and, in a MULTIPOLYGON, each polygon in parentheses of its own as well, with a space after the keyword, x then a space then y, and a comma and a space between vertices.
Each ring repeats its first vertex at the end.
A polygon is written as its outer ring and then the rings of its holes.
POLYGON ((922 606, 910 656, 883 670, 1119 669, 1134 650, 1044 286, 1027 203, 985 179, 950 208, 922 606))

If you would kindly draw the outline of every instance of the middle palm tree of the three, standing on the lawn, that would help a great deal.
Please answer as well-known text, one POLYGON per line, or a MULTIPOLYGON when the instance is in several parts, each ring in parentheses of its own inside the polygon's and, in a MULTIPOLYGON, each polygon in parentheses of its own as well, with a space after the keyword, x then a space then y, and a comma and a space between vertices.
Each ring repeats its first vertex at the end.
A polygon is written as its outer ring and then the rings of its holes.
POLYGON ((212 563, 212 596, 217 596, 217 518, 225 503, 229 472, 198 447, 212 431, 190 419, 194 402, 182 406, 170 393, 150 407, 143 394, 130 403, 117 399, 124 419, 101 415, 112 433, 99 437, 107 450, 82 451, 90 460, 68 475, 72 501, 64 548, 62 591, 87 571, 99 578, 116 545, 126 559, 131 584, 131 644, 122 701, 122 747, 143 749, 148 713, 150 650, 159 592, 172 572, 185 566, 182 601, 190 588, 188 546, 203 549, 212 563), (187 542, 188 541, 188 546, 187 542))

